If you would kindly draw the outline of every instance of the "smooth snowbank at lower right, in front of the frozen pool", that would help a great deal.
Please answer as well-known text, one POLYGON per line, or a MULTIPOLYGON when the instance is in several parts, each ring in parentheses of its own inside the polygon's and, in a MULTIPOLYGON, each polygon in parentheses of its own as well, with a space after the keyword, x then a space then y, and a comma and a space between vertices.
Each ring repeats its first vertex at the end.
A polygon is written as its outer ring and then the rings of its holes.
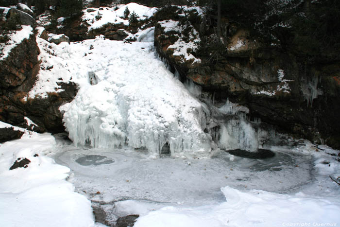
POLYGON ((165 207, 139 217, 134 226, 272 227, 340 223, 339 198, 310 198, 303 193, 287 195, 260 190, 241 192, 230 187, 221 191, 227 200, 224 203, 194 208, 165 207))

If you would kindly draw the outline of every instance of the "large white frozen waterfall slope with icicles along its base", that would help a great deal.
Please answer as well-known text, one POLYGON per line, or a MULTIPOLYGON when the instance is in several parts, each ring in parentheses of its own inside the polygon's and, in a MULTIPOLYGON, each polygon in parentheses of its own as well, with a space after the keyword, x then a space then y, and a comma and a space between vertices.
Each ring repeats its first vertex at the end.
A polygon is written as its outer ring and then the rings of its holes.
POLYGON ((59 46, 38 38, 38 44, 47 70, 39 72, 30 97, 59 92, 61 81, 79 85, 74 101, 61 107, 74 144, 128 144, 157 156, 169 143, 171 156, 209 155, 208 110, 155 57, 153 43, 97 37, 59 46))

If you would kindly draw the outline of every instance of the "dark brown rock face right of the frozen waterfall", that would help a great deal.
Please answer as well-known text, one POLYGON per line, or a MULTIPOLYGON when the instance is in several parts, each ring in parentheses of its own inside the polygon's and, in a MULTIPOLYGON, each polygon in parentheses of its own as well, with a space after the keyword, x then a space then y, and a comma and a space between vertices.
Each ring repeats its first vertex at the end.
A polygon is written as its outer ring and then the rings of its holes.
POLYGON ((172 47, 180 43, 178 40, 187 46, 194 42, 188 30, 199 31, 203 41, 212 38, 211 33, 200 27, 199 17, 196 22, 186 23, 181 23, 178 14, 159 20, 155 27, 156 50, 179 72, 182 81, 200 85, 215 102, 229 98, 247 106, 251 117, 281 132, 340 148, 339 61, 321 59, 318 64, 306 64, 291 52, 256 43, 237 27, 233 27, 229 43, 221 44, 220 50, 188 48, 180 55, 174 54, 172 47), (176 20, 176 29, 165 26, 176 20), (189 54, 199 61, 187 58, 189 54))

